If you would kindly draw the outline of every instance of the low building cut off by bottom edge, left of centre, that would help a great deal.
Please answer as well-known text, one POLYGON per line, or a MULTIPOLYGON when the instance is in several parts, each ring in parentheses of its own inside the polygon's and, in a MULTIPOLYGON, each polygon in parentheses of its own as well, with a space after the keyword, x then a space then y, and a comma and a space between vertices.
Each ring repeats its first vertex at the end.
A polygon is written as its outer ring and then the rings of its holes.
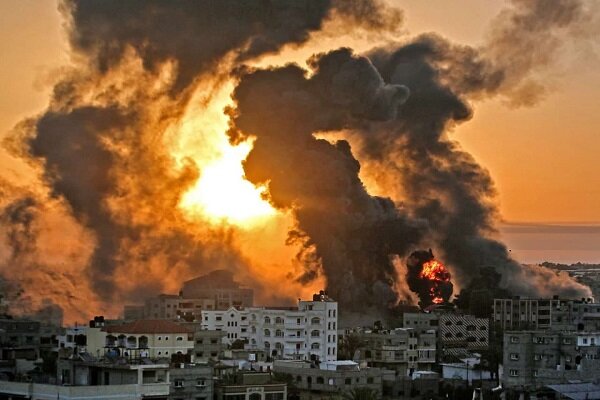
POLYGON ((215 385, 216 400, 284 400, 287 384, 268 372, 238 372, 223 376, 215 385))

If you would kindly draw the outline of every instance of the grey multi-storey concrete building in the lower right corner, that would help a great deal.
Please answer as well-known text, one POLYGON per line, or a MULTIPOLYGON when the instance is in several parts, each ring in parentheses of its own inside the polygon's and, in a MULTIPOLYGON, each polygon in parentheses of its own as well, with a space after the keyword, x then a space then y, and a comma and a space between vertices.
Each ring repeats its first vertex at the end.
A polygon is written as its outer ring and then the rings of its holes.
POLYGON ((600 332, 504 333, 503 385, 522 390, 600 376, 600 332))

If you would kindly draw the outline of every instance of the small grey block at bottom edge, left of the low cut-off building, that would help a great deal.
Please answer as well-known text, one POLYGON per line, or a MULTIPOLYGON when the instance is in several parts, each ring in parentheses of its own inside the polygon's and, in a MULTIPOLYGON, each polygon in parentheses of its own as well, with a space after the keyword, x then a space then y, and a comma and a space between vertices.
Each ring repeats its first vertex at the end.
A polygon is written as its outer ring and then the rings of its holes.
POLYGON ((213 368, 208 364, 174 364, 169 400, 212 400, 213 368))

